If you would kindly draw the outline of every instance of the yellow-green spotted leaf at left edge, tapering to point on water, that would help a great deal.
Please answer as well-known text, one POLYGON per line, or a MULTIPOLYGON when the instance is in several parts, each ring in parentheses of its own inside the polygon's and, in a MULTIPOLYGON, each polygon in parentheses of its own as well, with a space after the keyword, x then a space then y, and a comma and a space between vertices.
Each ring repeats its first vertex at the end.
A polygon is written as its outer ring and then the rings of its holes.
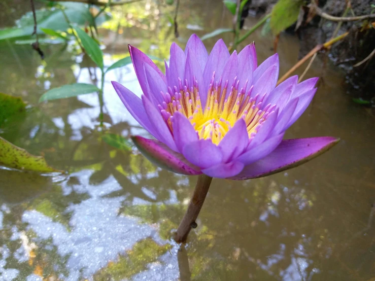
POLYGON ((41 173, 59 171, 48 166, 46 160, 42 156, 31 155, 26 150, 11 144, 1 136, 0 164, 9 168, 41 173))

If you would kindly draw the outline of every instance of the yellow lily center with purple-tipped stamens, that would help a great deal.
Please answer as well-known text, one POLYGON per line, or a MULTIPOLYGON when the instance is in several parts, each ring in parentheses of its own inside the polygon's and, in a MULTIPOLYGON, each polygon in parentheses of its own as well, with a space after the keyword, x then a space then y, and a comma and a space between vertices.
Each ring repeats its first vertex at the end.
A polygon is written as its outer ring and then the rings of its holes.
POLYGON ((174 86, 172 90, 168 87, 168 92, 161 92, 164 101, 158 107, 172 133, 171 117, 178 111, 189 119, 200 139, 211 139, 216 145, 240 118, 245 120, 249 138, 252 138, 276 107, 276 104, 263 106, 265 93, 263 95, 257 93, 254 97, 250 97, 253 86, 246 92, 248 81, 240 91, 238 91, 240 81, 237 78, 234 78, 230 88, 228 88, 228 80, 225 81, 221 89, 222 80, 220 78, 219 82, 214 83, 214 72, 207 93, 206 106, 203 109, 198 83, 195 77, 193 80, 193 85, 189 87, 187 80, 183 86, 179 78, 179 88, 174 86))

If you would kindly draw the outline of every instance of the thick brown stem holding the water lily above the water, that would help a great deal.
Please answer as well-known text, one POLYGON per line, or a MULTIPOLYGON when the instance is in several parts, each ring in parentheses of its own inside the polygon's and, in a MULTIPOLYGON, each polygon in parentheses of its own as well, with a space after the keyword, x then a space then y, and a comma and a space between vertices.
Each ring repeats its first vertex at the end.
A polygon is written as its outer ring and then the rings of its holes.
POLYGON ((195 220, 199 215, 200 209, 202 208, 204 199, 209 191, 212 178, 205 174, 200 174, 195 185, 193 197, 190 200, 188 209, 186 210, 185 216, 175 233, 174 239, 178 243, 185 242, 191 228, 196 227, 195 220))

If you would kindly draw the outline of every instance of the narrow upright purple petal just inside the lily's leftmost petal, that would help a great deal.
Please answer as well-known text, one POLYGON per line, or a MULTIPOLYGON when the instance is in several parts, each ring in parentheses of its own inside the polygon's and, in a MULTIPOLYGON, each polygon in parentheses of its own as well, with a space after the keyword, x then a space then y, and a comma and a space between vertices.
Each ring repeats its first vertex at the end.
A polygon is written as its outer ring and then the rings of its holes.
POLYGON ((159 109, 145 96, 142 96, 143 106, 145 107, 146 114, 149 117, 150 123, 154 130, 157 132, 159 141, 166 144, 170 149, 177 151, 175 141, 173 140, 171 131, 169 131, 159 109))

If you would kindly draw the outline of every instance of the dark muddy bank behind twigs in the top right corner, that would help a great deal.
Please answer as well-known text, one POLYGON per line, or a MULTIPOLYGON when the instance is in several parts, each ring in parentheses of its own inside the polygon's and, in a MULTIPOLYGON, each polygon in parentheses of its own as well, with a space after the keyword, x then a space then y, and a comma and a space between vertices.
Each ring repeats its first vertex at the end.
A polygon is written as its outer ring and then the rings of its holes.
MULTIPOLYGON (((257 13, 268 12, 277 0, 252 0, 250 9, 257 13)), ((351 10, 347 16, 360 16, 371 13, 373 0, 351 1, 351 10)), ((341 17, 347 9, 344 0, 319 1, 319 7, 327 14, 341 17)), ((307 17, 307 12, 305 13, 307 17)), ((347 76, 348 93, 353 97, 366 100, 372 99, 375 103, 375 56, 367 59, 359 66, 354 66, 363 61, 375 49, 375 29, 361 30, 361 21, 343 22, 336 36, 347 31, 350 32, 344 40, 334 44, 329 51, 328 57, 337 67, 342 68, 347 76)), ((337 28, 338 22, 333 22, 316 15, 308 24, 302 24, 296 31, 301 41, 299 56, 302 57, 313 49, 317 44, 322 44, 331 39, 337 28)), ((294 32, 292 26, 287 32, 294 32)))

